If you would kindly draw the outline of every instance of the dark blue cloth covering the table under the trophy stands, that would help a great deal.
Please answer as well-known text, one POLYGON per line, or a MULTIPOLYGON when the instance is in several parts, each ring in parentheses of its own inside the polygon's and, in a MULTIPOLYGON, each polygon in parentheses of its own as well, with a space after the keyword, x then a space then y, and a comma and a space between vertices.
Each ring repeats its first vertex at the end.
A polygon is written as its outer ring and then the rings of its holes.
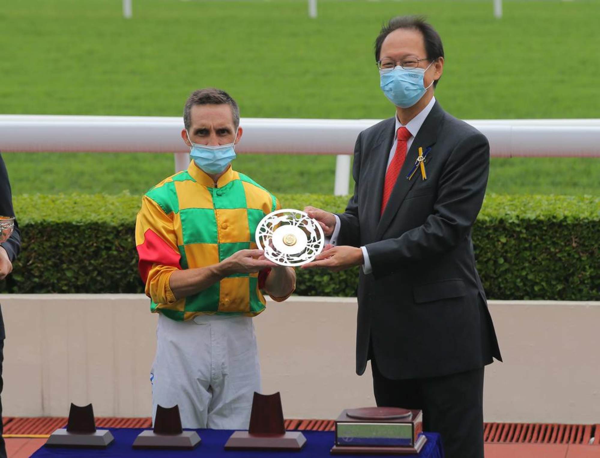
MULTIPOLYGON (((143 429, 115 428, 110 429, 115 441, 109 445, 106 450, 82 449, 82 448, 50 448, 41 447, 35 452, 34 457, 57 457, 57 456, 77 456, 77 457, 178 457, 178 456, 209 456, 209 457, 229 457, 229 458, 280 458, 280 457, 329 457, 329 450, 334 444, 335 436, 333 432, 320 431, 302 431, 307 439, 304 448, 299 452, 281 452, 281 451, 238 451, 224 450, 225 442, 229 439, 232 431, 199 429, 197 430, 202 442, 194 450, 133 450, 131 444, 137 435, 143 429)), ((407 458, 443 458, 442 441, 439 434, 425 433, 427 443, 418 455, 404 455, 407 458)), ((344 456, 344 455, 341 455, 344 456)), ((365 455, 345 455, 345 456, 365 456, 365 455)))

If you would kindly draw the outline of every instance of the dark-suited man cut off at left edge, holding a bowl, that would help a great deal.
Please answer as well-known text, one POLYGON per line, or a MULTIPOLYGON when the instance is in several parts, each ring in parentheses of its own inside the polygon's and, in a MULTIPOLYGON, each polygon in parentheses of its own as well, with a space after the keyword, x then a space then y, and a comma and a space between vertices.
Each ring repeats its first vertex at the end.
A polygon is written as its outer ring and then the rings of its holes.
MULTIPOLYGON (((14 216, 13 200, 8 182, 8 172, 4 160, 0 155, 0 216, 14 216)), ((0 244, 0 280, 13 270, 14 258, 19 254, 21 237, 19 227, 15 221, 13 234, 4 243, 0 244)), ((0 309, 0 394, 2 393, 2 361, 4 361, 4 321, 2 320, 2 309, 0 309)), ((2 439, 2 399, 0 399, 0 458, 6 457, 4 439, 2 439)))

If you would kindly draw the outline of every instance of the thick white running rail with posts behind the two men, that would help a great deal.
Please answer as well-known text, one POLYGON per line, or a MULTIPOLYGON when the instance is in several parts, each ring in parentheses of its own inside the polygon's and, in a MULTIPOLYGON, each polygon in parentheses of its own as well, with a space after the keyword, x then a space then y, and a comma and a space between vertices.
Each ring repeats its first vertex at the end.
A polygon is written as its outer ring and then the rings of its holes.
MULTIPOLYGON (((338 155, 335 194, 347 194, 356 136, 379 119, 242 118, 236 151, 338 155)), ((494 157, 600 157, 600 119, 466 121, 490 140, 494 157)), ((187 167, 181 118, 0 115, 2 152, 172 152, 187 167)), ((302 166, 299 161, 298 167, 302 166)))

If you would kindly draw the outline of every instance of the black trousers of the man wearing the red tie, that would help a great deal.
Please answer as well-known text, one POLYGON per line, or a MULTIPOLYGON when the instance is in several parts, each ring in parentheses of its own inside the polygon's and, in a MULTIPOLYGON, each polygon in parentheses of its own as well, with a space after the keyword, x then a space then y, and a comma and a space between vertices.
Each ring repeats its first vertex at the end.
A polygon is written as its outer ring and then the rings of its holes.
POLYGON ((390 380, 373 369, 377 406, 421 409, 423 429, 440 433, 446 458, 484 457, 484 368, 424 379, 390 380))

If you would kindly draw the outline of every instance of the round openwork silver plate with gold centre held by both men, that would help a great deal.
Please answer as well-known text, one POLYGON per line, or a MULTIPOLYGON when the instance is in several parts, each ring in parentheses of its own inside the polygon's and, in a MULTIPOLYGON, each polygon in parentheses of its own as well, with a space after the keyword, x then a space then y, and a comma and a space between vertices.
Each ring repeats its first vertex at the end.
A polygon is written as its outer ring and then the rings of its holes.
POLYGON ((275 264, 296 267, 313 261, 325 246, 323 229, 304 211, 276 210, 260 220, 256 244, 275 264))

